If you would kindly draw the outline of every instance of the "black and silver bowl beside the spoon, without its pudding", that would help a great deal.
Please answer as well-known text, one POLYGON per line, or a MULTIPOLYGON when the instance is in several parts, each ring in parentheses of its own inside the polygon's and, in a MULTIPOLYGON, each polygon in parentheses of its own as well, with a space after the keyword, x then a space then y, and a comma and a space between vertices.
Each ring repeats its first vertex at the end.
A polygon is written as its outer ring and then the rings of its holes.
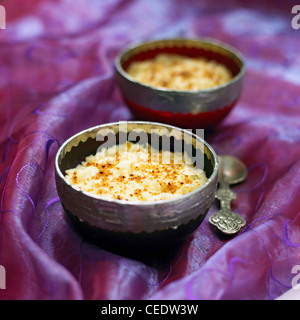
POLYGON ((216 153, 198 135, 139 121, 108 123, 79 132, 62 144, 55 159, 58 195, 73 226, 88 240, 122 253, 157 251, 177 245, 190 235, 203 221, 214 199, 218 168, 216 153), (208 181, 172 200, 125 201, 101 199, 65 179, 65 171, 76 167, 86 156, 125 141, 139 143, 142 133, 150 143, 154 136, 158 138, 155 141, 168 139, 170 144, 166 147, 162 143, 163 149, 170 147, 172 151, 184 146, 183 150, 194 157, 194 164, 205 170, 208 181))

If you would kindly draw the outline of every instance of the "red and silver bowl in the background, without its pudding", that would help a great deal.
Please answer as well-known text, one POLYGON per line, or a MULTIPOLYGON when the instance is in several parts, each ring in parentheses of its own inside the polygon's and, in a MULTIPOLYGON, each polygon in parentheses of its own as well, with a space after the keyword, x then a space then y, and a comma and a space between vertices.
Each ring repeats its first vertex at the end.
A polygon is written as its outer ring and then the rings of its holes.
POLYGON ((214 39, 166 39, 131 44, 115 60, 116 80, 126 104, 137 120, 158 121, 183 128, 212 128, 219 124, 239 99, 245 63, 242 55, 214 39), (205 90, 170 90, 135 81, 126 72, 134 61, 159 53, 205 57, 227 66, 233 79, 205 90))

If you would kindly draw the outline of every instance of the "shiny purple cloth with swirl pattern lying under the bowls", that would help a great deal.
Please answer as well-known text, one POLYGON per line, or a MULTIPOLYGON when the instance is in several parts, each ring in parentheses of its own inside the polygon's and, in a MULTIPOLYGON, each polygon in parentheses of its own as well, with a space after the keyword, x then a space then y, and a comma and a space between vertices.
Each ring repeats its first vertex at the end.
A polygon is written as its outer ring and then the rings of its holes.
POLYGON ((300 265, 300 30, 291 25, 293 2, 3 5, 1 299, 275 299, 291 289, 300 265), (208 222, 218 209, 214 202, 203 224, 169 255, 115 255, 70 227, 54 157, 76 132, 132 118, 113 77, 124 45, 179 36, 214 37, 246 58, 240 101, 205 138, 218 154, 248 166, 233 202, 247 225, 231 239, 220 237, 208 222))

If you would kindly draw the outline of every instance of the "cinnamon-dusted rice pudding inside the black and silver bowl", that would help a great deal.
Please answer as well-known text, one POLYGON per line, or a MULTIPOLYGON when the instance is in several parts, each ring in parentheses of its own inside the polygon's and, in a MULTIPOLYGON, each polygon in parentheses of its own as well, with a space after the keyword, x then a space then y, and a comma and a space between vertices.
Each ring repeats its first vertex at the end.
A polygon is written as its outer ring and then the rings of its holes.
POLYGON ((187 163, 183 155, 127 142, 86 157, 76 168, 66 170, 66 179, 104 199, 171 199, 207 181, 205 172, 187 163))

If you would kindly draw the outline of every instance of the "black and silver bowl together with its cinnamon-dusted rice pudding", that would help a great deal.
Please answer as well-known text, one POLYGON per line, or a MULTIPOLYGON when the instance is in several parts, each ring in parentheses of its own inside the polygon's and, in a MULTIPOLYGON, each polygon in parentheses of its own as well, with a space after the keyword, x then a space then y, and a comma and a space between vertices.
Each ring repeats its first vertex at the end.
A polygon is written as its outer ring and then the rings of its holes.
POLYGON ((128 121, 71 137, 55 167, 63 208, 85 238, 113 251, 153 252, 179 244, 201 224, 219 164, 188 130, 128 121))

